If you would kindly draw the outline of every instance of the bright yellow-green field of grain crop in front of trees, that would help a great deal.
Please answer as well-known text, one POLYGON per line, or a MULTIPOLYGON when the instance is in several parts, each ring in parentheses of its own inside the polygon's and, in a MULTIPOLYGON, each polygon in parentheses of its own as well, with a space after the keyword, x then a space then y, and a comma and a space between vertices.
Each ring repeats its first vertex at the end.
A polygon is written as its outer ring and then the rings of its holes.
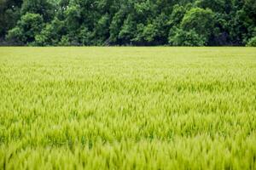
POLYGON ((256 48, 0 48, 0 169, 256 169, 256 48))

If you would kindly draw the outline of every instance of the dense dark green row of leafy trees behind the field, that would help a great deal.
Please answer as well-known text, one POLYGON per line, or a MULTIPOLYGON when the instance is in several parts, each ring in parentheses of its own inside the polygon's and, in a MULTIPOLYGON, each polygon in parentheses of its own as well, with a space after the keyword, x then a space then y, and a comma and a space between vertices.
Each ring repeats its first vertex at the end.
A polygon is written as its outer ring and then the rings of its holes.
POLYGON ((0 0, 0 43, 256 46, 256 1, 0 0))

